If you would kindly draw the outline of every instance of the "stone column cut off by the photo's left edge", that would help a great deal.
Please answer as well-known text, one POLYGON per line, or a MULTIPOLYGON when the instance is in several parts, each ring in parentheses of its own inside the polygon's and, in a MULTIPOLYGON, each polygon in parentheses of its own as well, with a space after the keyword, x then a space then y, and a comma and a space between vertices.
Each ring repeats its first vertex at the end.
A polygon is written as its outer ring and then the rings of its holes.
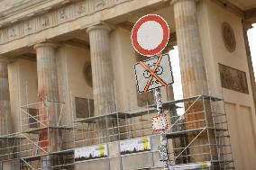
POLYGON ((11 133, 11 104, 8 82, 8 61, 0 58, 0 136, 11 133))

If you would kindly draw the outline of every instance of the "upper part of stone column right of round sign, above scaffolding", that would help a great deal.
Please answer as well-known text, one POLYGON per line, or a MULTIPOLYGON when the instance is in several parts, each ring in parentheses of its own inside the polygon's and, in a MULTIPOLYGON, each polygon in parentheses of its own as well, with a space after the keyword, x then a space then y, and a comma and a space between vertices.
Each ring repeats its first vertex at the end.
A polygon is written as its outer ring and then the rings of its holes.
POLYGON ((172 3, 184 97, 208 94, 206 66, 197 26, 197 0, 174 0, 172 3))

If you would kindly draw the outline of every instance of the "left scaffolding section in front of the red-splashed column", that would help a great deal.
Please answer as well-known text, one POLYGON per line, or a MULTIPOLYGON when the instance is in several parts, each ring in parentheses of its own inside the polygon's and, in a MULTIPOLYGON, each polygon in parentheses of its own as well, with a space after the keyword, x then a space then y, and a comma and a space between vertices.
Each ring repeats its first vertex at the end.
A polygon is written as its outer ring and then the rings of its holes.
MULTIPOLYGON (((20 169, 41 169, 42 164, 48 165, 45 161, 51 162, 51 159, 61 164, 66 161, 63 155, 65 157, 69 155, 69 148, 66 145, 69 140, 66 139, 72 135, 72 123, 70 125, 68 122, 63 108, 64 103, 55 101, 23 105, 20 112, 21 131, 0 137, 1 142, 7 144, 5 148, 0 148, 2 150, 0 159, 2 161, 18 159, 20 169), (40 112, 42 109, 44 112, 40 112), (52 117, 56 118, 53 123, 50 120, 52 117), (50 131, 54 131, 58 137, 56 141, 58 147, 54 151, 50 150, 53 148, 51 146, 56 146, 55 143, 50 143, 50 131)), ((73 146, 69 147, 73 148, 73 146)))

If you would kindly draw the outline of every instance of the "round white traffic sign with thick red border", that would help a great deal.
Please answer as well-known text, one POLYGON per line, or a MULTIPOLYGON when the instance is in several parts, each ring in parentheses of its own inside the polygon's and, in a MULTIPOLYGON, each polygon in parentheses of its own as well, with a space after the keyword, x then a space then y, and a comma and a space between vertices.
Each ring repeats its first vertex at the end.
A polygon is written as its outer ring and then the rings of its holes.
POLYGON ((160 15, 144 15, 134 24, 131 39, 137 52, 151 57, 167 46, 169 25, 160 15))

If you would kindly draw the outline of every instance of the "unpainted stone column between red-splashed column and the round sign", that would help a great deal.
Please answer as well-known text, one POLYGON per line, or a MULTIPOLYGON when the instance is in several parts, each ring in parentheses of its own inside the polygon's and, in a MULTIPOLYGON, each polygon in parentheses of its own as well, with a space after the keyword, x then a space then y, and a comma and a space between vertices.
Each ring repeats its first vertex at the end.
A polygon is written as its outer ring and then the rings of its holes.
MULTIPOLYGON (((115 112, 114 74, 109 40, 110 30, 110 27, 105 24, 92 26, 87 29, 90 39, 95 116, 115 112)), ((106 129, 107 127, 111 127, 113 123, 114 120, 102 120, 98 122, 97 128, 106 129)), ((109 132, 99 132, 100 142, 106 142, 108 140, 103 137, 110 135, 108 134, 109 132)))

